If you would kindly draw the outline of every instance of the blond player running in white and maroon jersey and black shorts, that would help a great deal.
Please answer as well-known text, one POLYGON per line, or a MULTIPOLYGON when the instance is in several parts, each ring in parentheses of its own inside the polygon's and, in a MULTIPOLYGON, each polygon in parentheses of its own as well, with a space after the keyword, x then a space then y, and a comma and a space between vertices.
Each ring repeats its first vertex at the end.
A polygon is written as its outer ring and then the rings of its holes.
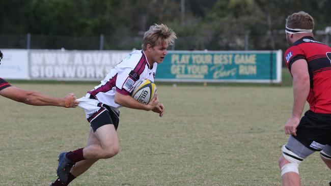
POLYGON ((120 147, 116 130, 120 107, 152 110, 162 117, 164 106, 159 103, 157 95, 146 105, 134 100, 130 94, 139 81, 154 81, 157 65, 162 63, 168 46, 174 44, 176 38, 174 31, 164 24, 150 26, 144 35, 142 50, 132 51, 101 84, 78 99, 91 124, 87 146, 60 153, 59 179, 51 185, 68 185, 97 160, 112 158, 118 153, 120 147))

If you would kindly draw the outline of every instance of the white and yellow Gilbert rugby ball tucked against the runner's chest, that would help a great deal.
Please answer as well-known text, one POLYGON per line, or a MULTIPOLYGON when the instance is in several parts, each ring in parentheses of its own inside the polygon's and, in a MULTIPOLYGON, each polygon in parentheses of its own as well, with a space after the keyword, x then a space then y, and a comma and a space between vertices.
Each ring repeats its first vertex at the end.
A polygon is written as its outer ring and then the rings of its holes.
POLYGON ((144 79, 137 83, 132 91, 131 96, 144 104, 148 104, 154 97, 156 93, 156 85, 148 79, 144 79))

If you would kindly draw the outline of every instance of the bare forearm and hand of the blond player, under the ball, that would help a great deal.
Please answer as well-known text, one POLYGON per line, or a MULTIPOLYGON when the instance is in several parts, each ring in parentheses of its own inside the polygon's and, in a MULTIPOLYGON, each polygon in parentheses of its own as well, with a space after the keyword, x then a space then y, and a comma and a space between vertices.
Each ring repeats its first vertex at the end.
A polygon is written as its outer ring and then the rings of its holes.
POLYGON ((130 95, 122 95, 119 92, 115 94, 115 103, 122 105, 123 107, 133 108, 133 109, 140 109, 140 110, 153 110, 154 107, 158 104, 157 95, 146 105, 136 101, 130 95))

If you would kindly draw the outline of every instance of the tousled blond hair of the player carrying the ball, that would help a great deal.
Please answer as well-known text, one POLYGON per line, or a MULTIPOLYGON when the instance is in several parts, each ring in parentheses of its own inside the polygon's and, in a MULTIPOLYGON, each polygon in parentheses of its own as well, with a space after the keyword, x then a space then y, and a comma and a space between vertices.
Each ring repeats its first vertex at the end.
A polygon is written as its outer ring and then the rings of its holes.
POLYGON ((142 49, 146 50, 148 44, 152 47, 158 44, 164 44, 164 42, 167 42, 168 46, 173 45, 175 39, 177 39, 176 33, 167 25, 154 24, 144 34, 142 49))

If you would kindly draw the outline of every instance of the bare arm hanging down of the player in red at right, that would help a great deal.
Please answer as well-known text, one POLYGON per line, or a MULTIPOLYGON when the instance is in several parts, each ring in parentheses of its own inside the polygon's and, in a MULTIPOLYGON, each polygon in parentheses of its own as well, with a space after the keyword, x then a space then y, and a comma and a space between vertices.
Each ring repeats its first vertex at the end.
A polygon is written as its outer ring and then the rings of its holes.
POLYGON ((293 110, 292 116, 285 125, 285 133, 296 136, 296 127, 299 125, 310 90, 308 64, 305 59, 299 59, 291 67, 293 76, 293 110))

